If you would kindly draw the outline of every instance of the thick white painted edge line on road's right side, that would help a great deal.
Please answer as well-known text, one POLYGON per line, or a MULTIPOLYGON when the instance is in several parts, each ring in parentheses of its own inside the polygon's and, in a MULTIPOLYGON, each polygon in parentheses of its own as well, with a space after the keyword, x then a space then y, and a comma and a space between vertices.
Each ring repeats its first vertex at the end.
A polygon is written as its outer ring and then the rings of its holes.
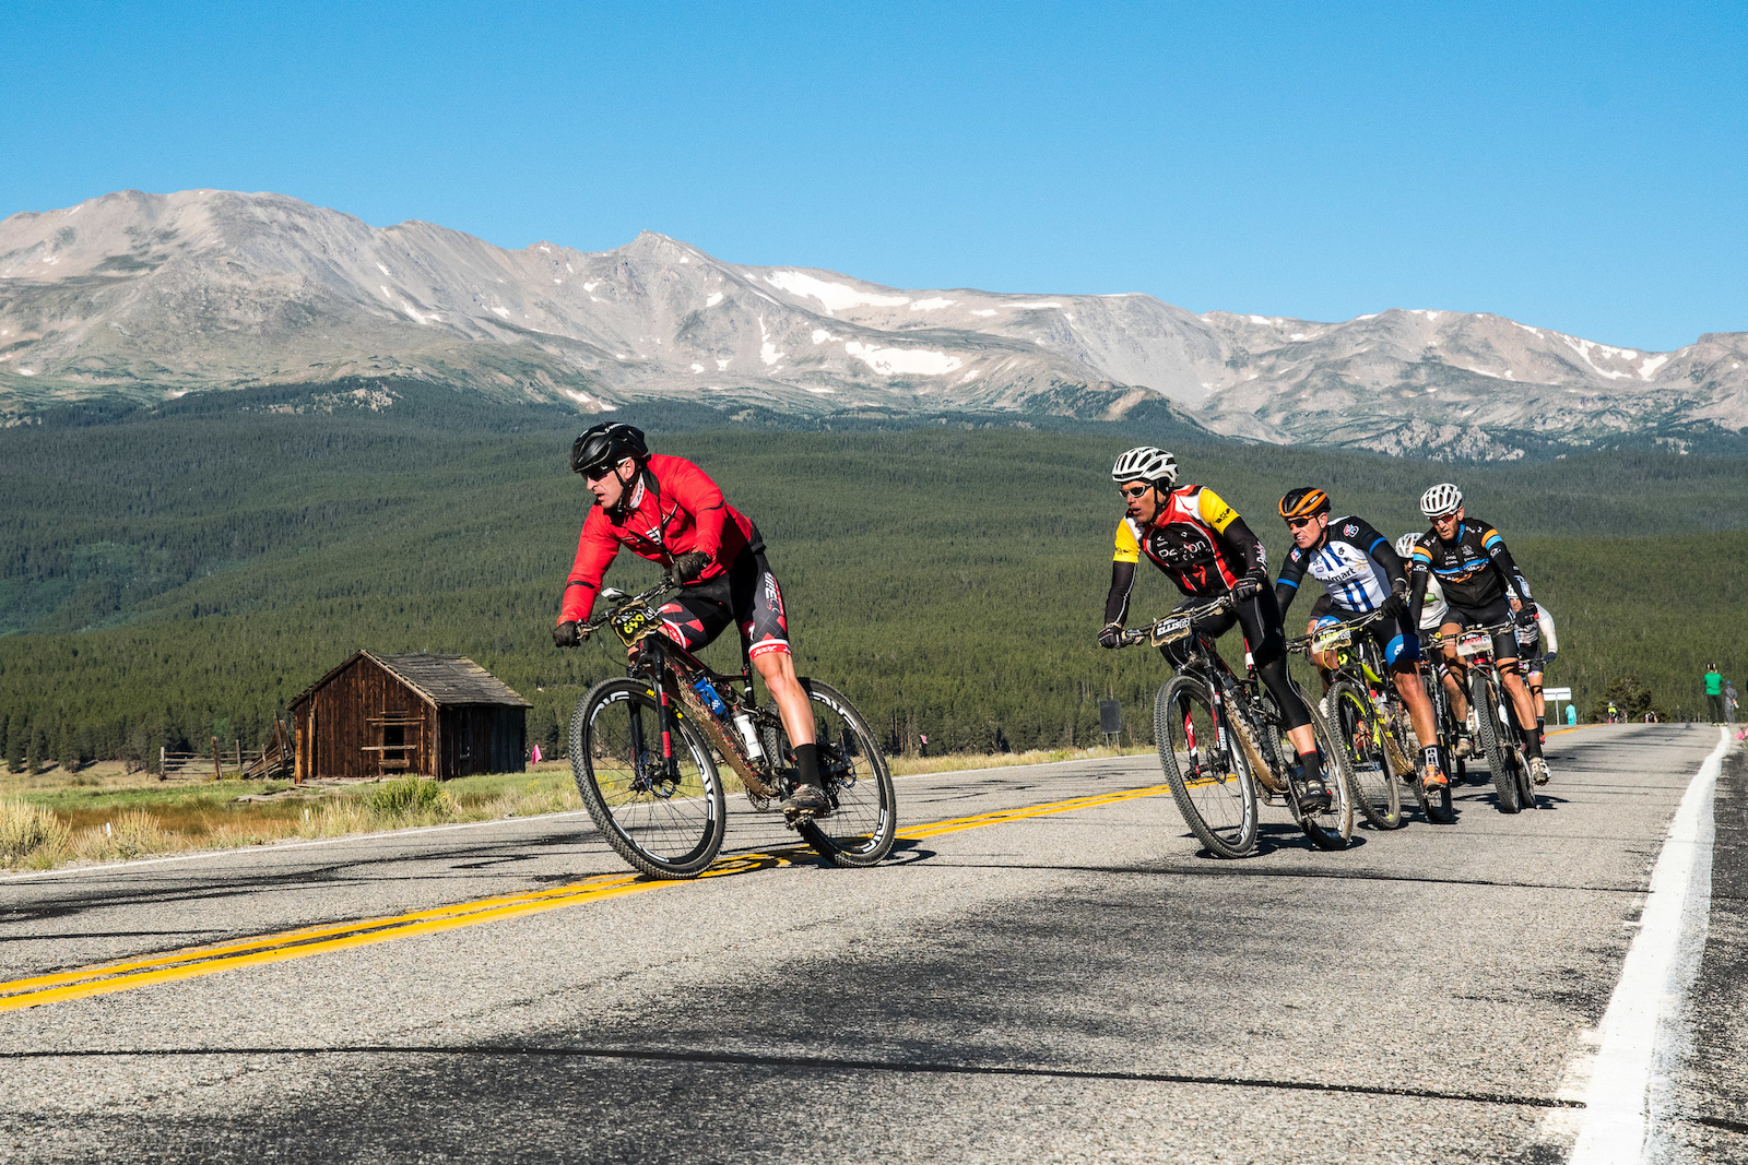
POLYGON ((1568 1165, 1650 1160, 1659 1125, 1650 1111, 1654 1090, 1669 1069, 1669 1048, 1659 1037, 1680 1013, 1704 952, 1717 833, 1711 803, 1731 744, 1729 730, 1720 730, 1718 746, 1687 784, 1657 854, 1638 936, 1598 1027, 1601 1046, 1568 1165))

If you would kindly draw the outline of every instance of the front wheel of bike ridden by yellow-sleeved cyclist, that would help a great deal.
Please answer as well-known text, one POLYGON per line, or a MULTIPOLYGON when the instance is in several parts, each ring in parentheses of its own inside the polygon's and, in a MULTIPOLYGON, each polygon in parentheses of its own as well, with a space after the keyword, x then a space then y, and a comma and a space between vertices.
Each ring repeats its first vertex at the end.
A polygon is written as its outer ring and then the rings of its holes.
POLYGON ((1173 676, 1154 699, 1159 767, 1185 824, 1217 858, 1257 847, 1257 784, 1208 686, 1173 676))

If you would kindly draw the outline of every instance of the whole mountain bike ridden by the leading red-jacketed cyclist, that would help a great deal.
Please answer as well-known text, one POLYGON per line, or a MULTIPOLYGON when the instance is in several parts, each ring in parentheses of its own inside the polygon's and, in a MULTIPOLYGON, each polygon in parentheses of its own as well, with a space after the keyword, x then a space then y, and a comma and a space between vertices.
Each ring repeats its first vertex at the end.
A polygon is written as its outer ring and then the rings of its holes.
MULTIPOLYGON (((570 718, 570 769, 589 817, 621 858, 656 879, 703 873, 722 849, 727 795, 717 756, 746 800, 769 812, 795 786, 794 751, 774 707, 753 695, 750 646, 741 674, 722 676, 662 634, 652 603, 608 587, 610 606, 579 631, 608 625, 626 645, 626 676, 603 679, 570 718)), ((785 814, 787 824, 839 866, 872 866, 891 851, 898 805, 879 742, 848 697, 802 679, 813 706, 820 777, 830 812, 785 814)))

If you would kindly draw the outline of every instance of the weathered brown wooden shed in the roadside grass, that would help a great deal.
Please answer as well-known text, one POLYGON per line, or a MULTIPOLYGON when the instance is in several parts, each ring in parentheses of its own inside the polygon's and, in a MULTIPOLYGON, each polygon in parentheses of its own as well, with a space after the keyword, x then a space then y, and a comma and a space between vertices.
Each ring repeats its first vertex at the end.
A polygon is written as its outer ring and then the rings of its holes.
POLYGON ((358 651, 292 700, 297 779, 521 772, 530 707, 460 655, 358 651))

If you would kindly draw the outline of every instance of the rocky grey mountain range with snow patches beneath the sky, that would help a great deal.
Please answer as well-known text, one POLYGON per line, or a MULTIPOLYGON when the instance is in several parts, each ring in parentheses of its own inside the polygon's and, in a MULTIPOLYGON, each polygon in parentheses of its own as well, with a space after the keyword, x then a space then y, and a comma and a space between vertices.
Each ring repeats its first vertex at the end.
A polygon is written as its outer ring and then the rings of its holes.
POLYGON ((1122 419, 1435 458, 1738 438, 1748 334, 1669 353, 1503 316, 1339 323, 1152 295, 900 290, 748 267, 654 232, 505 250, 280 194, 124 190, 0 220, 0 421, 47 405, 413 379, 584 412, 1122 419))

